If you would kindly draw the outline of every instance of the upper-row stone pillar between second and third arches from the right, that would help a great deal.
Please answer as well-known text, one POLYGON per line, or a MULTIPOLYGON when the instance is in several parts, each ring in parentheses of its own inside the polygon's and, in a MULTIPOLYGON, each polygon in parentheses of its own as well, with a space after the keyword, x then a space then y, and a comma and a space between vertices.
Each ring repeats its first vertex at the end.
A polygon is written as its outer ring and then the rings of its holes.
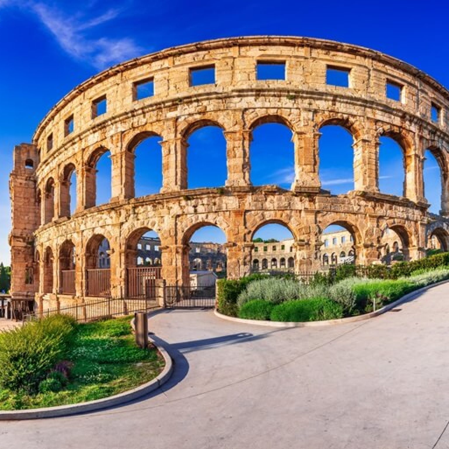
POLYGON ((379 192, 379 141, 360 138, 354 141, 354 190, 379 192))

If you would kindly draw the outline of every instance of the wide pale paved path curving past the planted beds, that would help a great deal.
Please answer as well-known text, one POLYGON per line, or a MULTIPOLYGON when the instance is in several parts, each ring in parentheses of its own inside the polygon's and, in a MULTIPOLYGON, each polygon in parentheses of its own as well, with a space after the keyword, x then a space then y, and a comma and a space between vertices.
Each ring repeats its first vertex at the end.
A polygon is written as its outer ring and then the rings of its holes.
POLYGON ((380 317, 266 329, 166 311, 173 378, 130 405, 0 422, 1 448, 449 447, 449 283, 380 317))

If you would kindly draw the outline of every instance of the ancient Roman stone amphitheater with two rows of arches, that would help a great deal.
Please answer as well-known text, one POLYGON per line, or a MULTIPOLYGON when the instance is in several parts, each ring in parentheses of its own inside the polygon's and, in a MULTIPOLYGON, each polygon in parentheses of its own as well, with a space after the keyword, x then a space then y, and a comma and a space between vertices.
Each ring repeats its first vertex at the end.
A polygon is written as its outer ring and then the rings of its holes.
POLYGON ((448 150, 448 90, 413 66, 367 48, 255 36, 189 44, 124 62, 68 93, 42 120, 32 143, 14 149, 13 298, 36 300, 45 308, 105 294, 127 297, 136 245, 148 230, 161 239, 158 277, 178 286, 189 282, 190 238, 205 225, 225 233, 230 278, 250 272, 253 235, 268 223, 291 230, 298 272, 317 269, 321 234, 332 224, 352 234, 358 264, 380 260, 387 229, 400 236, 407 259, 423 257, 432 236, 447 250, 448 150), (266 64, 283 66, 285 75, 258 79, 258 66, 266 64), (211 72, 212 81, 193 85, 201 70, 211 72), (346 76, 347 85, 331 85, 329 70, 346 76), (140 98, 138 90, 147 84, 154 92, 140 98), (387 86, 399 97, 389 98, 387 86), (101 102, 107 109, 99 114, 101 102), (251 184, 251 135, 271 122, 293 133, 295 179, 289 190, 251 184), (318 143, 320 129, 329 124, 353 137, 355 188, 348 194, 321 189, 318 143), (216 188, 189 189, 187 139, 209 125, 224 131, 227 180, 216 188), (149 136, 162 140, 163 186, 158 194, 135 198, 133 151, 149 136), (379 191, 381 136, 403 150, 400 197, 379 191), (440 215, 427 212, 423 195, 426 150, 440 166, 440 215), (106 151, 112 198, 96 206, 96 164, 106 151), (70 216, 73 173, 77 207, 70 216), (97 257, 105 238, 107 271, 98 267, 97 257), (92 289, 94 277, 106 282, 101 291, 92 289))

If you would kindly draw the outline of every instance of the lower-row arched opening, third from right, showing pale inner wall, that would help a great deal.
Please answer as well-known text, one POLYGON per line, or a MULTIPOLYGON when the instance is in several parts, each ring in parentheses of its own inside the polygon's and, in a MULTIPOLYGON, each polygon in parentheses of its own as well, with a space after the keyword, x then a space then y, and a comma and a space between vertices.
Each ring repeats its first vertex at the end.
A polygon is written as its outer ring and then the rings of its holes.
POLYGON ((321 264, 323 266, 355 263, 356 235, 351 225, 336 222, 327 226, 321 234, 321 264), (330 260, 329 255, 330 253, 330 260))

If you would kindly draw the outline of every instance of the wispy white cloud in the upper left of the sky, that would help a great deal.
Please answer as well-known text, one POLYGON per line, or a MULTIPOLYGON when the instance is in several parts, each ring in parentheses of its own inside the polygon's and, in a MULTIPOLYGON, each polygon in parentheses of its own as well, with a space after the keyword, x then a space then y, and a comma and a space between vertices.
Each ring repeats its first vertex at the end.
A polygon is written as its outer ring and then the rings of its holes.
POLYGON ((99 27, 119 17, 119 9, 108 9, 92 17, 88 6, 80 8, 81 11, 76 14, 69 14, 55 6, 56 3, 48 5, 36 0, 20 3, 16 0, 0 0, 0 7, 9 5, 18 5, 33 13, 67 54, 99 70, 142 53, 142 48, 132 38, 95 37, 99 27))

